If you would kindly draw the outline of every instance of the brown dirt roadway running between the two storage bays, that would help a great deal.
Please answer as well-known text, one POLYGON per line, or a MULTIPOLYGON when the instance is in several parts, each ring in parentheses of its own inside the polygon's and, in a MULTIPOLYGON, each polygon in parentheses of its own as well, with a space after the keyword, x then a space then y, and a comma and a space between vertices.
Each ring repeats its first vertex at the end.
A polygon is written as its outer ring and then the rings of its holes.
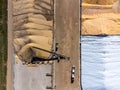
POLYGON ((55 41, 58 52, 70 60, 55 62, 55 90, 80 90, 80 0, 55 0, 55 41), (75 80, 71 83, 71 68, 75 80))

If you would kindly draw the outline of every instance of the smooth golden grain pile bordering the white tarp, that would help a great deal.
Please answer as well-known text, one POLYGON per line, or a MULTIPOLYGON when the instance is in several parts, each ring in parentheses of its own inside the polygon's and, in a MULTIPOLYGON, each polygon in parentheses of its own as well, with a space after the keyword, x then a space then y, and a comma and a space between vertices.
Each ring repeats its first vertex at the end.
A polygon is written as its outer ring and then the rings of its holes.
POLYGON ((89 4, 86 7, 82 10, 82 35, 120 35, 120 0, 110 6, 89 4))

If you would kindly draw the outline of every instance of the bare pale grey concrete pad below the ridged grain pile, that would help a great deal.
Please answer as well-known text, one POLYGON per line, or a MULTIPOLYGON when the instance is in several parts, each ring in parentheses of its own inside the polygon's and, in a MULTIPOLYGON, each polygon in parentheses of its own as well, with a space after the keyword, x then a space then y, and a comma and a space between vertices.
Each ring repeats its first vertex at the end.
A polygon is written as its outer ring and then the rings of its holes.
POLYGON ((15 90, 46 90, 46 86, 51 86, 51 78, 46 77, 46 73, 51 73, 51 65, 27 67, 19 61, 14 68, 15 90))

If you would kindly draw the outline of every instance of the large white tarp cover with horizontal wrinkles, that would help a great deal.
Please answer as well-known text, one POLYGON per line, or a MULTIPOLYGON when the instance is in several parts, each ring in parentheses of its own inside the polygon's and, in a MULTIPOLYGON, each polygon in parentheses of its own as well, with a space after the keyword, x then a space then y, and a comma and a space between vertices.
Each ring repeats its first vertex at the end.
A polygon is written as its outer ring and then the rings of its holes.
POLYGON ((120 36, 82 36, 83 90, 120 90, 120 36))

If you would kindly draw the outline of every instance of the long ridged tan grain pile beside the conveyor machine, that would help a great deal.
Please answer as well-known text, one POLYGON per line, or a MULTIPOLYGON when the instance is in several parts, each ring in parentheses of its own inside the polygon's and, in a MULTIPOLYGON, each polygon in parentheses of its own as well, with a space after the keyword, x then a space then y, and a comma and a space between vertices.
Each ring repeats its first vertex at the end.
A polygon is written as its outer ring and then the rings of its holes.
POLYGON ((50 58, 33 47, 52 50, 53 1, 13 0, 13 46, 16 60, 30 62, 32 57, 50 58))

